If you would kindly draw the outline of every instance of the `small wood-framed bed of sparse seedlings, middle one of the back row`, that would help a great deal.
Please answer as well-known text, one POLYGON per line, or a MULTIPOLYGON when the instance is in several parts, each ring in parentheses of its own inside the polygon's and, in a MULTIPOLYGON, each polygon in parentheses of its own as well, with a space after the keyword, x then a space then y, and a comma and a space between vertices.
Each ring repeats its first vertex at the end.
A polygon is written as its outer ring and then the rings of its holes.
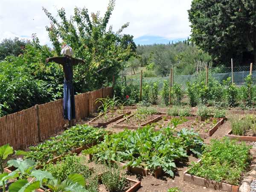
POLYGON ((143 115, 143 114, 132 114, 125 119, 114 124, 114 128, 128 128, 128 129, 137 129, 145 125, 148 125, 152 122, 157 122, 162 117, 160 115, 143 115))

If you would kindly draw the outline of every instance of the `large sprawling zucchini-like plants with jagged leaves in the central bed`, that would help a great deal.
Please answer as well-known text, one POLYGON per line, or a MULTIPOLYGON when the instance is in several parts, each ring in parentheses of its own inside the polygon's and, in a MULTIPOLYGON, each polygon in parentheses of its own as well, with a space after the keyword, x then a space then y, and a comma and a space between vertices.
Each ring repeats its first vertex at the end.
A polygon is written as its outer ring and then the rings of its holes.
POLYGON ((182 130, 175 137, 171 128, 154 131, 147 126, 105 136, 104 142, 83 153, 93 154, 97 161, 127 162, 127 166, 142 166, 151 171, 160 166, 173 176, 174 162, 188 157, 187 150, 200 154, 202 146, 202 139, 192 131, 182 130))

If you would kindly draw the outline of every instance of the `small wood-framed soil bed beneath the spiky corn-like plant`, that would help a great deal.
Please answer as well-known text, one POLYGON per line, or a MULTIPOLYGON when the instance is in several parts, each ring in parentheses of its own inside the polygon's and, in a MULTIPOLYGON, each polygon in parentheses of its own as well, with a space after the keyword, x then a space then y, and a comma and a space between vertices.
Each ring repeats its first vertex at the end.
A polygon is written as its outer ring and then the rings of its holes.
POLYGON ((95 127, 105 126, 119 119, 122 119, 125 115, 129 114, 131 114, 131 111, 124 110, 114 110, 108 113, 102 113, 99 116, 96 116, 94 119, 92 119, 89 122, 89 125, 93 125, 95 127))

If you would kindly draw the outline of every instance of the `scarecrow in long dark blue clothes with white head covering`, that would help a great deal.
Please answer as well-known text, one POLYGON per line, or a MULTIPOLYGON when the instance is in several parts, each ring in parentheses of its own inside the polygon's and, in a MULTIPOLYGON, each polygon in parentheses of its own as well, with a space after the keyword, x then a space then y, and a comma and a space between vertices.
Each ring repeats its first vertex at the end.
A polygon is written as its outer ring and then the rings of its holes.
POLYGON ((66 44, 62 46, 61 54, 63 57, 51 57, 46 59, 46 63, 55 62, 63 66, 64 71, 64 99, 63 99, 63 111, 64 119, 69 120, 69 126, 74 125, 74 120, 76 119, 76 109, 75 109, 75 97, 73 88, 73 65, 83 63, 84 61, 72 58, 73 55, 72 48, 66 44))

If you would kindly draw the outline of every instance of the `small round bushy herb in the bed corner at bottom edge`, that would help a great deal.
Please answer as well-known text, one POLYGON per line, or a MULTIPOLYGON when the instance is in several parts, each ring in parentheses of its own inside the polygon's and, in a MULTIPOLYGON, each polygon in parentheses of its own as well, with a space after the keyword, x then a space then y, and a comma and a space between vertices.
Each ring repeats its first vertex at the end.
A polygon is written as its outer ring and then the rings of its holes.
POLYGON ((120 175, 120 170, 115 167, 109 167, 102 174, 102 183, 109 192, 121 192, 127 185, 125 175, 120 175))

